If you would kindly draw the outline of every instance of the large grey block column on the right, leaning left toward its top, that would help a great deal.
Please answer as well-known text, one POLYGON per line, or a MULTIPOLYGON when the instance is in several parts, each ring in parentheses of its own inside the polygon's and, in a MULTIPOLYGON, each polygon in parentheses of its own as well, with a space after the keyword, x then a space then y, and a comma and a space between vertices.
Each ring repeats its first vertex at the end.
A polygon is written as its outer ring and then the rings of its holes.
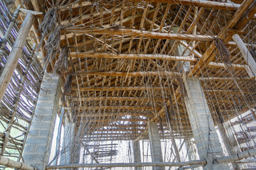
POLYGON ((213 157, 223 157, 224 154, 199 79, 184 77, 184 84, 188 94, 186 110, 198 154, 200 159, 208 162, 203 169, 229 169, 227 164, 213 164, 213 157))

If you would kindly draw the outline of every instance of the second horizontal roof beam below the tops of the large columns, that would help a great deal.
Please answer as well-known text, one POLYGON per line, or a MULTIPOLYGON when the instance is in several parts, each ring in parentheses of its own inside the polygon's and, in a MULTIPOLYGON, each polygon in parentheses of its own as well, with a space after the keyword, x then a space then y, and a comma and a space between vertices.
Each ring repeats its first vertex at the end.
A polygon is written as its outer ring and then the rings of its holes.
POLYGON ((72 98, 72 101, 168 101, 167 98, 142 98, 142 97, 85 97, 72 98))

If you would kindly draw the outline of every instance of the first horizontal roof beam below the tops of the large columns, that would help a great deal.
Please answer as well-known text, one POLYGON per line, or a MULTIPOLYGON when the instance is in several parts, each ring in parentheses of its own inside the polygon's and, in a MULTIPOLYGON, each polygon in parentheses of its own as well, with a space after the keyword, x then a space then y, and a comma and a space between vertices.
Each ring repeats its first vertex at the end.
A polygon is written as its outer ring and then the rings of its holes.
MULTIPOLYGON (((72 86, 71 90, 78 90, 78 87, 72 86)), ((170 87, 158 87, 158 86, 110 86, 110 87, 80 87, 80 91, 166 91, 170 90, 170 87)))

